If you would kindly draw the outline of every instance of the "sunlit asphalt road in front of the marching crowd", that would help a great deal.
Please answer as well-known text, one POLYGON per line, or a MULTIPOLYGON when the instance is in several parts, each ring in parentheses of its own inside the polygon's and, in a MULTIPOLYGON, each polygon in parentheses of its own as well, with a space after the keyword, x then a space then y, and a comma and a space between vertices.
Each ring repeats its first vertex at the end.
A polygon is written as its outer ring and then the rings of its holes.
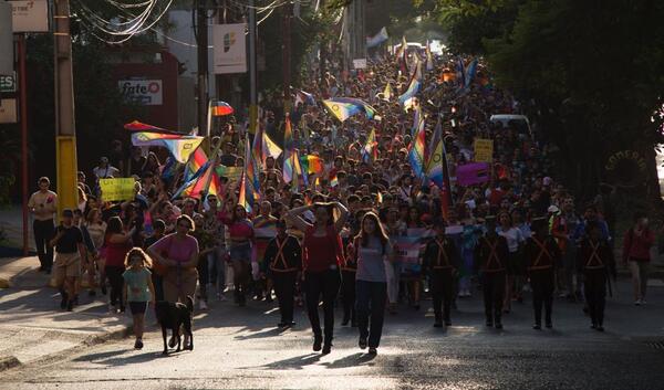
POLYGON ((196 317, 194 351, 162 357, 153 330, 143 350, 133 339, 93 346, 0 373, 0 389, 664 389, 664 288, 651 292, 656 303, 645 307, 626 294, 610 302, 604 334, 589 328, 579 304, 557 302, 554 329, 541 331, 530 327, 528 303, 515 304, 502 331, 483 325, 478 297, 459 301, 448 329, 432 327, 430 302, 404 306, 387 317, 373 358, 339 323, 332 354, 321 356, 303 313, 279 331, 272 305, 214 303, 196 317))

